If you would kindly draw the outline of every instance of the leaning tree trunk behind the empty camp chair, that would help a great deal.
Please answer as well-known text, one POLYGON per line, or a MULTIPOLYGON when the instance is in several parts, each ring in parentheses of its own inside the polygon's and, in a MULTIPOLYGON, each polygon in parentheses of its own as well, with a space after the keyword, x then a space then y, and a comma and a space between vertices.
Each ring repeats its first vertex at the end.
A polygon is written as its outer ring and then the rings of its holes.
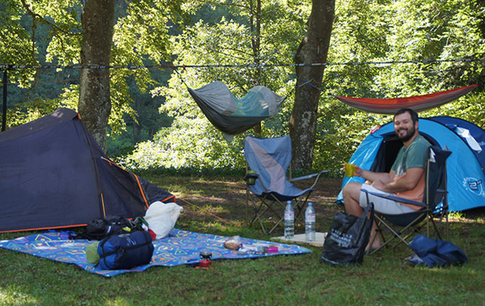
MULTIPOLYGON (((296 64, 325 63, 327 60, 335 0, 313 0, 308 31, 296 52, 296 64)), ((317 127, 317 110, 324 66, 297 66, 295 104, 289 122, 293 168, 309 169, 317 127), (309 84, 304 84, 305 82, 309 84)))

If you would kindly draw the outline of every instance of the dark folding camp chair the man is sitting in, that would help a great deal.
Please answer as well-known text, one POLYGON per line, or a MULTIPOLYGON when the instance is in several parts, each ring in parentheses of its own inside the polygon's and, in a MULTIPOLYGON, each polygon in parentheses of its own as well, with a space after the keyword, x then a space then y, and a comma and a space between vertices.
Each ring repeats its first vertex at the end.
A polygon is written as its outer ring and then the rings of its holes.
MULTIPOLYGON (((448 236, 448 202, 447 202, 447 173, 446 173, 446 159, 451 154, 450 151, 441 149, 440 146, 430 146, 428 148, 427 159, 425 164, 425 188, 423 195, 423 202, 410 201, 408 199, 401 198, 399 196, 392 196, 388 194, 380 194, 378 192, 369 192, 362 190, 366 193, 367 203, 369 203, 369 194, 378 196, 384 199, 390 199, 400 203, 407 203, 422 207, 416 212, 410 212, 406 214, 382 214, 376 212, 376 223, 378 225, 377 234, 381 235, 382 245, 389 246, 389 244, 398 239, 398 242, 394 244, 394 248, 400 243, 408 245, 408 238, 414 233, 421 233, 421 227, 423 223, 426 225, 426 233, 430 235, 430 224, 434 227, 436 236, 441 239, 440 227, 445 218, 445 230, 446 236, 448 236), (438 222, 434 220, 438 218, 438 222), (393 227, 395 225, 395 227, 393 227), (384 240, 382 235, 382 227, 385 227, 393 234, 393 237, 389 240, 384 240), (410 231, 409 233, 407 233, 410 231), (404 234, 406 233, 406 235, 404 234)), ((374 235, 373 239, 376 239, 377 235, 374 235)), ((372 241, 373 242, 373 241, 372 241)), ((369 255, 375 253, 380 248, 376 248, 369 252, 369 255)))

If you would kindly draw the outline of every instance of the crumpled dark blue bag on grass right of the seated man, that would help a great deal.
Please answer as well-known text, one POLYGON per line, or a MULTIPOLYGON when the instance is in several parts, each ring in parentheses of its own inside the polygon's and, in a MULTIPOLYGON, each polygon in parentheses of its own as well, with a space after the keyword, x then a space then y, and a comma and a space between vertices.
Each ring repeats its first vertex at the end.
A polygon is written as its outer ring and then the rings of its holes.
POLYGON ((430 239, 422 234, 413 238, 409 247, 415 251, 415 255, 408 257, 408 260, 416 265, 433 268, 463 264, 468 260, 459 246, 444 240, 430 239))

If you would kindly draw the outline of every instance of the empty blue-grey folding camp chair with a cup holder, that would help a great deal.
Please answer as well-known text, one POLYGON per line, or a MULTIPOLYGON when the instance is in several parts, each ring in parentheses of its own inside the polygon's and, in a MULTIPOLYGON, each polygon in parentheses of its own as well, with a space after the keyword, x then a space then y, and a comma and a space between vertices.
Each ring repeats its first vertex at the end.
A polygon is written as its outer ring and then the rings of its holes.
MULTIPOLYGON (((278 138, 246 137, 244 140, 244 155, 246 157, 246 222, 248 222, 248 209, 252 208, 254 216, 249 225, 259 221, 263 233, 270 234, 284 218, 287 201, 291 201, 295 209, 295 221, 302 223, 298 216, 302 212, 313 188, 323 173, 320 171, 312 175, 287 179, 287 170, 291 162, 291 138, 283 136, 278 138), (310 188, 300 190, 291 181, 312 179, 310 188), (276 216, 276 224, 266 231, 263 215, 272 213, 276 216)), ((290 169, 291 170, 291 169, 290 169)), ((290 174, 291 177, 291 174, 290 174)))

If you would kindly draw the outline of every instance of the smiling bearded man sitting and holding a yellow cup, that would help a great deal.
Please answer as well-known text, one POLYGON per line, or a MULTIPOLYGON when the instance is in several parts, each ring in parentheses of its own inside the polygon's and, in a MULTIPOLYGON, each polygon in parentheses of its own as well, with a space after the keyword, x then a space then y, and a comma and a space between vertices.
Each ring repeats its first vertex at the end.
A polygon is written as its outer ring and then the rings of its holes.
MULTIPOLYGON (((345 212, 361 216, 363 207, 373 202, 376 212, 382 214, 406 214, 415 212, 421 207, 407 203, 399 203, 390 199, 384 199, 369 192, 379 192, 400 196, 412 201, 421 201, 424 193, 424 168, 426 163, 426 152, 430 142, 419 135, 418 115, 414 110, 398 110, 394 115, 394 129, 397 137, 402 140, 404 146, 397 153, 396 160, 389 173, 375 173, 363 170, 356 166, 354 175, 363 177, 367 181, 362 183, 351 182, 343 188, 343 202, 345 212), (369 196, 369 201, 367 201, 369 196)), ((380 236, 376 235, 377 225, 374 221, 371 238, 366 251, 379 248, 382 244, 380 236)))

